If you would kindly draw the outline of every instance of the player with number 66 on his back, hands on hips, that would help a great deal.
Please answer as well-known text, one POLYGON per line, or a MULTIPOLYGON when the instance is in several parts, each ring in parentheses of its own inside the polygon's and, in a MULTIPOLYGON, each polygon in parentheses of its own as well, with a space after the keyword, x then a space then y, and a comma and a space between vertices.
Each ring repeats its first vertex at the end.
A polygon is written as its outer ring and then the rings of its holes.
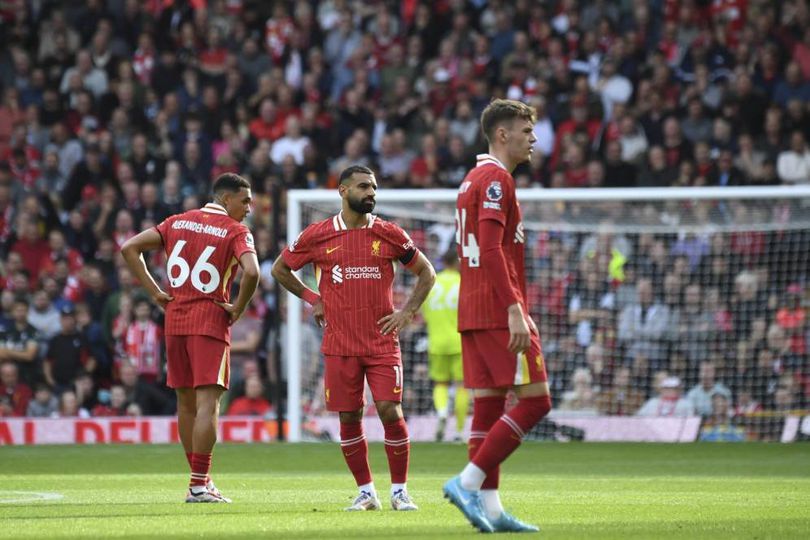
POLYGON ((250 212, 250 183, 236 174, 214 181, 214 202, 170 216, 127 240, 129 268, 166 310, 167 384, 177 392, 177 424, 191 467, 186 502, 230 502, 211 481, 219 401, 230 379, 231 324, 250 303, 259 283, 253 236, 242 224, 250 212), (168 292, 146 267, 142 253, 166 251, 168 292), (236 301, 230 290, 237 268, 236 301))

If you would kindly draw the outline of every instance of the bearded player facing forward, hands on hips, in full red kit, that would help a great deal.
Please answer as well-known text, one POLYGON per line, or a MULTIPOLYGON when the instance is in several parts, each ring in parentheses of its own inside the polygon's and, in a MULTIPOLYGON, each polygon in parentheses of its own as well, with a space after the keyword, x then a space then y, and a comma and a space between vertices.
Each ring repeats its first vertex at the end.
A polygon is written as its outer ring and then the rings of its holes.
POLYGON ((413 319, 436 274, 405 231, 371 214, 377 192, 371 169, 347 168, 338 189, 342 210, 304 229, 273 264, 273 277, 312 304, 316 322, 324 327, 326 407, 340 414, 340 446, 360 490, 347 510, 380 509, 363 433, 364 380, 385 429, 391 507, 416 510, 406 487, 410 439, 402 415, 398 333, 413 319), (393 302, 396 261, 417 276, 401 310, 393 302), (319 293, 292 273, 309 263, 315 265, 319 293))

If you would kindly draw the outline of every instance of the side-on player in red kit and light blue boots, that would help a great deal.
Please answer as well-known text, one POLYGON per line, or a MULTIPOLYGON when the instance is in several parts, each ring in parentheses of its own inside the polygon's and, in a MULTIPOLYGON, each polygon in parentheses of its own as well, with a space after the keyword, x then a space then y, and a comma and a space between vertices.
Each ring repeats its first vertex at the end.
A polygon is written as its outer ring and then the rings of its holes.
POLYGON ((461 261, 458 325, 464 384, 473 389, 470 462, 444 485, 445 497, 484 532, 536 531, 503 510, 499 465, 551 409, 537 327, 529 316, 525 235, 512 171, 537 140, 534 110, 496 99, 481 114, 489 153, 459 186, 456 241, 461 261), (504 413, 508 390, 518 404, 504 413))

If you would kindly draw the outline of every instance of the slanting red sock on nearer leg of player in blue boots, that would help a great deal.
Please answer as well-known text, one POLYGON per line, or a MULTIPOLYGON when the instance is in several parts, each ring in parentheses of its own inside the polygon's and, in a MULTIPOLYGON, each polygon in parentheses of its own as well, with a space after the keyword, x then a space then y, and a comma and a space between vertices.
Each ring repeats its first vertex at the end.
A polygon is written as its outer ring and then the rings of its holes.
POLYGON ((521 399, 514 409, 495 422, 484 443, 471 460, 472 463, 486 472, 487 479, 489 479, 490 471, 503 463, 520 446, 526 433, 550 410, 551 398, 549 396, 521 399))

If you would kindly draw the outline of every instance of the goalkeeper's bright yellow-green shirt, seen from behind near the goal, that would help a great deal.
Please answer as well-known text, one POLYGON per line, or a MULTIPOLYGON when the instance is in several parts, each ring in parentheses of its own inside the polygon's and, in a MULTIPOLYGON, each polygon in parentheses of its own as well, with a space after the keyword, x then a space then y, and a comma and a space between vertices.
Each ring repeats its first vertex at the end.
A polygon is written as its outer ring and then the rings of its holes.
POLYGON ((445 269, 436 274, 436 284, 422 304, 428 332, 428 353, 461 354, 458 333, 458 288, 461 274, 445 269))

